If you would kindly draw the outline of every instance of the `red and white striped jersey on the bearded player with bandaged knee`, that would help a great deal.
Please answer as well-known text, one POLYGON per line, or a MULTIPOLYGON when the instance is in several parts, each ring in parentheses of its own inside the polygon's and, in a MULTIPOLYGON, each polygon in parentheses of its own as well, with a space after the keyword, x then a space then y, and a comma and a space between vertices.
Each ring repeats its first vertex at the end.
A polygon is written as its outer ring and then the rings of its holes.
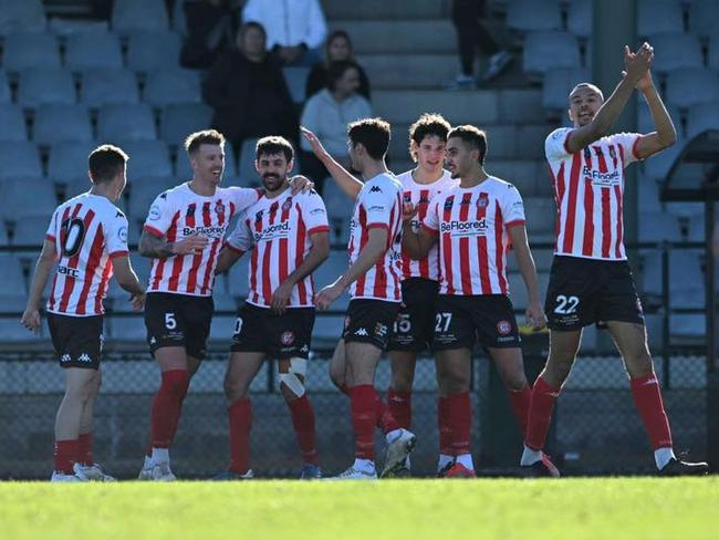
MULTIPOLYGON (((292 195, 286 189, 272 199, 262 197, 248 208, 227 239, 227 246, 240 252, 254 246, 247 301, 269 308, 274 290, 310 252, 312 235, 329 231, 327 211, 315 191, 292 195)), ((292 288, 288 308, 313 307, 313 299, 314 281, 309 274, 292 288)))

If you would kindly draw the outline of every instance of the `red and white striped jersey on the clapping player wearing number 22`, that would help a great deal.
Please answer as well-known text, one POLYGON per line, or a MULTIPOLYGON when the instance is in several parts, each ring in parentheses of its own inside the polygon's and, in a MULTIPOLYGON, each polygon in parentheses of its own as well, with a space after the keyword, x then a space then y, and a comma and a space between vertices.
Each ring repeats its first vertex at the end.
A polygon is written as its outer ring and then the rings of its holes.
POLYGON ((570 154, 572 131, 555 129, 544 143, 558 208, 554 253, 624 260, 624 167, 638 159, 642 135, 609 135, 570 154))

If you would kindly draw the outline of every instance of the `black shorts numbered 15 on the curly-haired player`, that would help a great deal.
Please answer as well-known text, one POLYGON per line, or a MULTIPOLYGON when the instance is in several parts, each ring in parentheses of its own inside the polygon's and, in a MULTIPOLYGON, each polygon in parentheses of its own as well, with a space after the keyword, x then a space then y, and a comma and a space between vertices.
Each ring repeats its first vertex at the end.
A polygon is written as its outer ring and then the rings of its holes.
POLYGON ((389 338, 388 351, 420 352, 429 349, 435 334, 437 281, 410 278, 402 282, 402 304, 389 338))

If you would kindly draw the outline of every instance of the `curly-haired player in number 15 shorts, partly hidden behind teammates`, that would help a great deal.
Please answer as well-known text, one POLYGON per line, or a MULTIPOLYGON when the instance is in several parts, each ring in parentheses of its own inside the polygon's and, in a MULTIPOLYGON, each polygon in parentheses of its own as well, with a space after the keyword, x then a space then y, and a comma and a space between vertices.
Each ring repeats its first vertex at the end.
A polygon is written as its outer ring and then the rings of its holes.
MULTIPOLYGON (((423 114, 409 127, 409 155, 417 166, 398 175, 397 179, 403 185, 404 201, 417 206, 417 216, 411 220, 414 230, 419 228, 430 200, 437 194, 458 185, 458 180, 451 178, 449 172, 442 168, 447 133, 449 133, 450 128, 449 123, 439 114, 423 114)), ((359 194, 359 189, 362 189, 362 181, 336 163, 314 134, 304 131, 304 135, 343 191, 354 200, 359 194)), ((434 301, 437 298, 439 274, 437 247, 433 247, 427 257, 419 261, 411 260, 403 252, 402 262, 403 302, 387 347, 392 367, 387 405, 389 413, 397 423, 402 427, 409 429, 411 426, 411 387, 417 355, 429 346, 435 329, 434 301)), ((331 375, 333 382, 340 388, 346 390, 344 381, 344 343, 338 343, 333 355, 331 375)), ((446 424, 444 402, 445 398, 440 396, 438 402, 440 432, 438 471, 451 460, 448 459, 445 451, 448 446, 447 437, 444 436, 447 434, 447 428, 444 427, 446 424)), ((383 405, 382 402, 378 402, 378 406, 382 407, 383 405)), ((408 463, 405 464, 405 468, 398 470, 397 474, 406 476, 409 472, 408 463)))

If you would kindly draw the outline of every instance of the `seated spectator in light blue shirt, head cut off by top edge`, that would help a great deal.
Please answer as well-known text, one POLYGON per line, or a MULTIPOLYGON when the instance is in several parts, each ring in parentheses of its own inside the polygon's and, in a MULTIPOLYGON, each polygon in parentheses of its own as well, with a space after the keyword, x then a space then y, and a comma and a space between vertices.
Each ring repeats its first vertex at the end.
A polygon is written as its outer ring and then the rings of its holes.
POLYGON ((319 0, 248 0, 242 20, 264 27, 268 49, 282 65, 310 66, 320 61, 327 23, 319 0))

